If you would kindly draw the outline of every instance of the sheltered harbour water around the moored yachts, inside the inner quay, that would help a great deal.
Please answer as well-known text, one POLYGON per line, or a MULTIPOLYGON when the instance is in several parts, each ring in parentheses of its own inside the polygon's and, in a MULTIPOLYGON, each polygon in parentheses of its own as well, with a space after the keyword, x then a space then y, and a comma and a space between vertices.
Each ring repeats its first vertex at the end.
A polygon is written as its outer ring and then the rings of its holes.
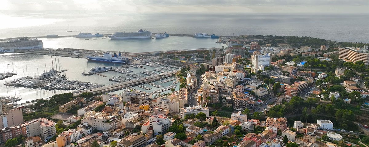
MULTIPOLYGON (((57 60, 59 60, 58 64, 55 65, 55 62, 54 62, 54 68, 55 66, 58 66, 58 70, 59 69, 69 69, 68 71, 64 72, 66 75, 66 78, 68 78, 69 80, 80 80, 80 81, 102 83, 105 85, 109 85, 111 83, 116 83, 116 82, 109 81, 109 78, 112 76, 124 76, 126 78, 134 79, 130 76, 126 76, 126 74, 122 74, 122 73, 118 73, 114 71, 103 72, 102 74, 106 75, 106 77, 99 76, 99 75, 90 75, 90 76, 81 75, 82 72, 89 71, 91 68, 96 67, 96 66, 113 66, 113 67, 120 66, 120 65, 116 65, 112 63, 91 62, 83 58, 70 58, 70 57, 57 57, 57 60)), ((31 101, 37 98, 47 98, 47 97, 53 96, 54 94, 70 92, 70 91, 65 91, 65 90, 49 91, 49 90, 42 90, 42 89, 27 89, 24 87, 15 87, 14 89, 14 87, 7 87, 3 85, 6 81, 21 78, 24 76, 31 76, 31 77, 37 76, 38 74, 41 74, 43 71, 45 71, 45 66, 47 70, 50 70, 50 68, 52 68, 51 56, 49 55, 23 54, 23 53, 0 54, 0 72, 8 72, 8 71, 15 72, 16 71, 16 73, 18 73, 17 76, 13 76, 11 78, 0 80, 0 96, 8 96, 8 95, 15 96, 15 94, 17 94, 17 97, 22 98, 22 100, 18 102, 18 104, 21 104, 21 103, 24 103, 25 101, 31 101)), ((133 68, 133 67, 129 69, 134 71, 131 73, 137 73, 139 75, 144 75, 144 74, 139 73, 141 71, 145 71, 145 70, 152 71, 152 69, 154 69, 153 67, 149 67, 146 65, 143 65, 143 66, 147 69, 133 68)), ((158 81, 156 81, 154 83, 167 87, 171 85, 172 82, 158 83, 158 81)), ((161 89, 161 88, 150 86, 148 84, 145 84, 145 86, 151 87, 152 89, 144 90, 137 86, 133 88, 146 91, 146 92, 153 92, 155 90, 161 89)), ((177 84, 177 87, 175 89, 179 90, 179 83, 177 84)), ((121 91, 118 90, 114 93, 121 93, 121 91)))

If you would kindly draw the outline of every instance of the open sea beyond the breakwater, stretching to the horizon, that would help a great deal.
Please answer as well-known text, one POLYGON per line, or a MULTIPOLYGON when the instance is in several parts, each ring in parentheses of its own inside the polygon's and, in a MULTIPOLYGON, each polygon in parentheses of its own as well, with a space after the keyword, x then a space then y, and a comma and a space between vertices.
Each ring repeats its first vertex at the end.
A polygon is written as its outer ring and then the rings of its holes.
POLYGON ((155 33, 311 36, 342 42, 369 42, 369 14, 0 13, 3 20, 8 20, 0 24, 0 38, 76 35, 79 32, 111 34, 115 31, 146 29, 155 33), (74 32, 66 32, 68 24, 74 32))

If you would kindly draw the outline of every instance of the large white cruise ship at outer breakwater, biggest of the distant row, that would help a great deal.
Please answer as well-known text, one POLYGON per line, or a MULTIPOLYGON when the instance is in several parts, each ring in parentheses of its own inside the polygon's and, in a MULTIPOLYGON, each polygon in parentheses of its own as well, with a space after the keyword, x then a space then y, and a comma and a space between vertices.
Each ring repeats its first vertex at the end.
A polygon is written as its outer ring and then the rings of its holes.
POLYGON ((108 35, 111 39, 143 39, 151 38, 152 33, 146 30, 138 30, 137 32, 114 32, 112 35, 108 35))

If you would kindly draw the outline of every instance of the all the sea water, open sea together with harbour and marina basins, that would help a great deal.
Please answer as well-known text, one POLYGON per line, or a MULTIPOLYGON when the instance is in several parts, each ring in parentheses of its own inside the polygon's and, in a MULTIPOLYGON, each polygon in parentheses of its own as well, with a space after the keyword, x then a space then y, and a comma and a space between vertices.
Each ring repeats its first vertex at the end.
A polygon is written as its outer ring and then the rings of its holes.
MULTIPOLYGON (((339 42, 369 43, 369 14, 250 14, 250 13, 174 13, 151 12, 132 13, 123 11, 85 12, 85 11, 0 11, 0 38, 20 36, 77 35, 84 33, 112 34, 114 32, 135 32, 139 29, 153 33, 209 35, 277 35, 310 36, 339 42), (67 32, 68 30, 73 32, 67 32)), ((162 39, 89 40, 67 38, 42 38, 44 48, 75 48, 104 51, 155 52, 183 49, 223 47, 215 43, 217 39, 169 36, 162 39)), ((111 76, 121 75, 113 71, 99 75, 82 76, 81 73, 96 66, 119 65, 90 62, 83 58, 57 57, 60 69, 69 69, 65 75, 70 80, 103 83, 114 82, 111 76), (60 65, 59 65, 60 64, 60 65)), ((55 63, 54 63, 55 65, 55 63)), ((152 67, 144 66, 147 70, 152 67)), ((0 96, 17 96, 18 103, 47 98, 54 94, 70 91, 27 89, 3 85, 23 76, 37 76, 52 68, 51 56, 23 53, 0 54, 0 72, 16 72, 18 75, 0 80, 0 96), (45 65, 46 64, 46 65, 45 65)), ((146 69, 132 69, 139 73, 146 69)), ((122 76, 125 76, 124 74, 122 76)), ((127 76, 126 76, 127 77, 127 76)), ((128 77, 130 78, 130 77, 128 77)), ((169 86, 171 82, 159 85, 169 86)), ((149 85, 145 85, 152 87, 149 85)), ((139 87, 135 87, 140 89, 139 87)), ((155 87, 152 87, 155 90, 155 87)), ((179 89, 177 84, 176 90, 179 89)), ((143 90, 143 89, 140 89, 143 90)), ((145 91, 145 90, 143 90, 145 91)), ((150 91, 150 90, 149 90, 150 91)), ((115 93, 119 93, 117 91, 115 93)))

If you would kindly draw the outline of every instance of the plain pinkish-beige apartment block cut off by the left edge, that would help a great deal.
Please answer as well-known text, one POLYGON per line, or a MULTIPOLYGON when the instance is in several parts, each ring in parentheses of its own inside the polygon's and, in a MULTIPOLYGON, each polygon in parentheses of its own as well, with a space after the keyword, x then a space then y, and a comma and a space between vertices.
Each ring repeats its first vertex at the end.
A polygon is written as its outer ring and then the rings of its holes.
POLYGON ((0 128, 7 128, 23 122, 23 114, 21 109, 12 109, 0 115, 0 128))

